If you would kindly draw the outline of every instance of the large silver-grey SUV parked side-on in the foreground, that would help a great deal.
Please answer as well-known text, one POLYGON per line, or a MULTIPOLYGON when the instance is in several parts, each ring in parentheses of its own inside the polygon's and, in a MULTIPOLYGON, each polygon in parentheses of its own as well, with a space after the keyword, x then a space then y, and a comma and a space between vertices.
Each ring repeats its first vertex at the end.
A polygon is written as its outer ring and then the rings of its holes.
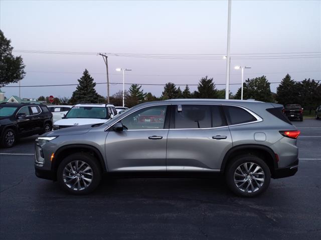
POLYGON ((219 173, 234 193, 254 196, 266 190, 271 177, 291 176, 298 168, 300 132, 282 109, 251 100, 142 103, 106 123, 38 137, 36 175, 86 194, 103 173, 219 173))

